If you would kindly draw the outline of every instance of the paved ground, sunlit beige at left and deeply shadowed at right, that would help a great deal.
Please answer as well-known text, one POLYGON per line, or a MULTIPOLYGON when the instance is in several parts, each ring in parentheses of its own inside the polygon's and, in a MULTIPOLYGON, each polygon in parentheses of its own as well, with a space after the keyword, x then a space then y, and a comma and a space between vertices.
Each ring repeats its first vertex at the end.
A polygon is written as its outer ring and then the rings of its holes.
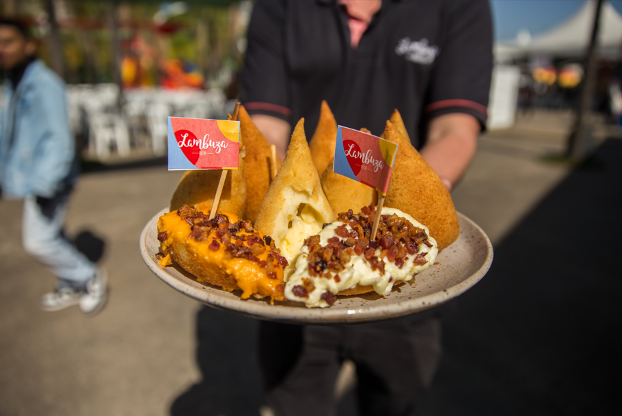
MULTIPOLYGON (((622 142, 570 172, 541 160, 559 138, 486 135, 453 193, 491 237, 495 262, 455 300, 422 415, 579 415, 605 403, 597 393, 614 374, 605 359, 622 289, 613 264, 622 142)), ((142 226, 179 177, 161 164, 83 176, 67 232, 94 256, 105 242, 111 296, 94 318, 39 311, 52 276, 21 248, 21 203, 0 201, 1 416, 258 414, 256 322, 173 292, 138 254, 142 226)), ((339 414, 356 414, 352 395, 339 414)))

